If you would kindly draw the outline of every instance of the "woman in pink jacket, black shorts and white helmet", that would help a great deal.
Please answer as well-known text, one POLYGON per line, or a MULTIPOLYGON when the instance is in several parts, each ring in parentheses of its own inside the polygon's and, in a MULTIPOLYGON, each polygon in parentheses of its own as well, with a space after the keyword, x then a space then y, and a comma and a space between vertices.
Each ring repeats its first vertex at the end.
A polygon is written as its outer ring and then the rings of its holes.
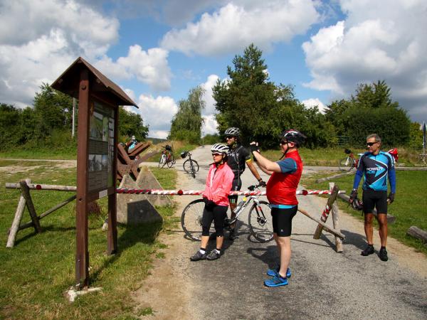
POLYGON ((201 247, 195 255, 190 257, 191 261, 216 260, 221 257, 221 247, 224 240, 224 219, 227 214, 228 195, 230 194, 234 174, 227 164, 228 146, 214 144, 211 152, 214 163, 209 168, 209 173, 206 177, 206 188, 203 193, 205 208, 201 218, 201 247), (211 228, 212 220, 214 220, 216 231, 216 249, 208 254, 206 246, 209 241, 209 228, 211 228))

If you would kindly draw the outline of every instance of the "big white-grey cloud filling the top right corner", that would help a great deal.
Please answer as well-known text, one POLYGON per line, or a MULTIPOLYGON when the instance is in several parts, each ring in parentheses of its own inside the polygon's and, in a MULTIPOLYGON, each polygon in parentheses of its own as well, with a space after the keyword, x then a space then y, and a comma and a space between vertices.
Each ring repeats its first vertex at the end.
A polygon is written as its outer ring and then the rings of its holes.
POLYGON ((413 119, 427 114, 427 3, 342 0, 345 21, 302 45, 317 90, 349 97, 358 83, 385 80, 413 119))

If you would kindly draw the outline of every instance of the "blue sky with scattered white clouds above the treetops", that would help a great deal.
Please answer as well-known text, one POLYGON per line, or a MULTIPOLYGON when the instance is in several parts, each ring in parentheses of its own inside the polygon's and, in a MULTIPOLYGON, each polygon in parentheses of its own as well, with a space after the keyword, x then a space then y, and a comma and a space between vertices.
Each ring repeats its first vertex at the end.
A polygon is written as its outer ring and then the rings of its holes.
POLYGON ((203 134, 216 132, 212 86, 253 43, 270 80, 307 107, 386 81, 412 121, 427 121, 425 0, 0 0, 0 103, 33 105, 85 58, 120 85, 165 138, 179 100, 206 93, 203 134))

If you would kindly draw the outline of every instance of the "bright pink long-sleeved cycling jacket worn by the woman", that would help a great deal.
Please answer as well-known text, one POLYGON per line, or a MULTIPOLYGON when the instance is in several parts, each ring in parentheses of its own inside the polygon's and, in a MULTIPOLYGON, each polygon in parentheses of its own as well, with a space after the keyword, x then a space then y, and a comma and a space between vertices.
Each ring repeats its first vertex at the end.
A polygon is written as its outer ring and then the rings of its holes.
POLYGON ((214 201, 218 206, 228 206, 228 195, 233 184, 234 174, 228 164, 216 167, 212 164, 206 177, 204 198, 214 201))

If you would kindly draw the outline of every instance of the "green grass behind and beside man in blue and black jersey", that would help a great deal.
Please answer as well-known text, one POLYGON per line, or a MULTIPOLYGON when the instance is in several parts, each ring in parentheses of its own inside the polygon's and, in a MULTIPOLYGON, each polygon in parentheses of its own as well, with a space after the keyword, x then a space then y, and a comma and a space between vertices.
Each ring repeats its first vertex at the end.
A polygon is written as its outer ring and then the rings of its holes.
MULTIPOLYGON (((328 189, 328 181, 315 183, 315 180, 332 174, 336 174, 336 172, 322 172, 310 176, 302 176, 301 183, 309 189, 328 189)), ((353 187, 353 178, 354 176, 337 178, 334 183, 349 194, 353 187)), ((411 225, 427 230, 427 171, 396 171, 396 179, 396 200, 389 206, 389 213, 396 217, 396 221, 389 225, 389 236, 427 255, 427 246, 421 240, 406 235, 406 230, 411 225)), ((359 187, 359 198, 362 198, 361 186, 359 187)), ((348 203, 339 199, 338 204, 339 208, 345 212, 363 220, 360 211, 353 210, 348 206, 348 203)))

